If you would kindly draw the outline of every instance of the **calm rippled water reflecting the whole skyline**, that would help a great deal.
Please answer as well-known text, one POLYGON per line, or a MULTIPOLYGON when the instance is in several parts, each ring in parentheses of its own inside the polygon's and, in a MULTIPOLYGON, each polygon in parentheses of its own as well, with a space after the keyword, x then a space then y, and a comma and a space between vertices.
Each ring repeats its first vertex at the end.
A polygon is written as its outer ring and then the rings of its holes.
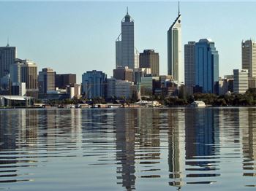
POLYGON ((0 190, 256 190, 256 108, 0 117, 0 190))

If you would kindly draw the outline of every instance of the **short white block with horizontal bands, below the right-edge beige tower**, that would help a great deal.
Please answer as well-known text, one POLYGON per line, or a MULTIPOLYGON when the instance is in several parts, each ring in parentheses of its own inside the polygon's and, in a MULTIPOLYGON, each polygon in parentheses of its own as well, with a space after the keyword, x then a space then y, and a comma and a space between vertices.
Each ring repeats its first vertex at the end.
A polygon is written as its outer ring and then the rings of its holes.
POLYGON ((234 82, 233 90, 234 93, 246 93, 248 90, 248 70, 233 70, 234 82))

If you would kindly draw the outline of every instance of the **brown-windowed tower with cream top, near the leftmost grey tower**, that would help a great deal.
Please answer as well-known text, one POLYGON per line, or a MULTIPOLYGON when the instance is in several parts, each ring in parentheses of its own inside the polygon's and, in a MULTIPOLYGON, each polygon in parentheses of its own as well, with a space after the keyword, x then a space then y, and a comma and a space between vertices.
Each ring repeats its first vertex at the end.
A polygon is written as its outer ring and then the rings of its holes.
POLYGON ((21 82, 26 83, 26 95, 37 98, 37 64, 29 60, 20 60, 21 82))

